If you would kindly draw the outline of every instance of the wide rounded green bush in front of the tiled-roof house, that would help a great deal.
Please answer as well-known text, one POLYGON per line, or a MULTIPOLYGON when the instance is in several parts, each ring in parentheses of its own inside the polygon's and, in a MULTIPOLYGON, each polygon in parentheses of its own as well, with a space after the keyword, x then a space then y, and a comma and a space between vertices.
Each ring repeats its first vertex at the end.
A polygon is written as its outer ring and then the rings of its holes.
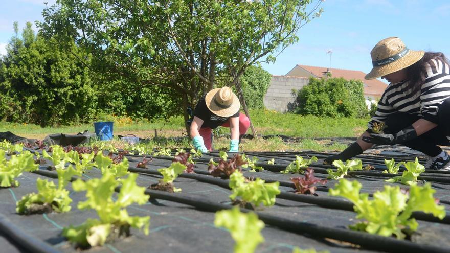
POLYGON ((294 112, 328 117, 366 117, 364 84, 344 78, 311 78, 297 93, 294 112))

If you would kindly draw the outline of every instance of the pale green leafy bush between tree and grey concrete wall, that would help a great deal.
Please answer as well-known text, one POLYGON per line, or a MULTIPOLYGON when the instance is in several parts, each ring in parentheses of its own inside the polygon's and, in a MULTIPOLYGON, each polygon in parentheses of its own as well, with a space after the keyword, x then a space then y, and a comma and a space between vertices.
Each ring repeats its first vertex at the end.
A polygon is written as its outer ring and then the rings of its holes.
POLYGON ((262 67, 247 67, 240 79, 247 107, 264 108, 263 99, 271 85, 271 77, 262 67))

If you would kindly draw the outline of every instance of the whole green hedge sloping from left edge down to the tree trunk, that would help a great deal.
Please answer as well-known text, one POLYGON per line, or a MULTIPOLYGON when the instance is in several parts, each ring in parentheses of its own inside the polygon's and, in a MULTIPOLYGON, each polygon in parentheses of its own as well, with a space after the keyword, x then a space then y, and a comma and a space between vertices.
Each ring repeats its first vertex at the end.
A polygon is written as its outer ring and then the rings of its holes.
POLYGON ((179 114, 181 97, 168 88, 107 75, 78 45, 36 35, 30 22, 20 35, 17 23, 14 29, 0 59, 0 119, 59 126, 109 114, 133 119, 179 114))

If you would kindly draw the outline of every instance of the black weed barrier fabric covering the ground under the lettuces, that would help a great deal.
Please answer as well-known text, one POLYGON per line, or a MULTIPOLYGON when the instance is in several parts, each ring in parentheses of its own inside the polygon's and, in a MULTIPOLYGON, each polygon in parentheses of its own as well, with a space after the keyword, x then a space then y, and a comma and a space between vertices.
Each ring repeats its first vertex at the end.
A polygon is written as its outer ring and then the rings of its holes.
MULTIPOLYGON (((400 148, 398 148, 400 149, 400 148)), ((381 170, 384 168, 383 159, 394 157, 396 162, 400 159, 395 154, 385 155, 385 148, 371 150, 364 153, 367 163, 377 163, 376 170, 363 175, 350 175, 349 180, 358 180, 362 183, 362 192, 373 194, 377 190, 383 190, 385 185, 396 185, 407 189, 408 186, 385 182, 388 178, 381 170)), ((389 150, 389 152, 394 152, 389 150)), ((401 148, 399 157, 414 160, 415 155, 409 155, 408 150, 401 148)), ((336 180, 329 180, 324 186, 320 186, 317 197, 310 195, 293 194, 290 178, 298 174, 280 174, 280 168, 285 168, 295 160, 295 155, 311 157, 316 155, 319 161, 310 167, 316 169, 316 177, 325 178, 326 168, 322 165, 323 159, 330 153, 302 151, 302 152, 248 152, 247 155, 256 156, 265 170, 261 172, 244 171, 246 177, 260 177, 267 181, 280 181, 282 194, 277 197, 277 203, 270 208, 258 208, 255 212, 266 223, 262 234, 265 242, 260 244, 256 252, 292 252, 294 246, 303 249, 315 248, 317 250, 329 250, 330 252, 447 252, 450 247, 448 234, 450 225, 446 221, 429 219, 429 216, 421 213, 415 214, 419 222, 417 233, 411 241, 399 241, 394 238, 384 238, 369 235, 362 232, 354 232, 348 229, 348 225, 355 223, 355 215, 351 210, 351 204, 339 197, 329 197, 327 192, 332 188, 336 180), (267 161, 275 159, 275 165, 267 165, 267 161), (361 245, 356 246, 356 244, 361 245)), ((208 161, 210 158, 217 160, 218 153, 204 154, 195 165, 196 174, 186 174, 178 177, 174 185, 183 189, 181 193, 166 193, 147 190, 150 201, 145 205, 133 204, 128 208, 130 215, 150 215, 150 234, 145 236, 136 229, 131 229, 131 236, 125 239, 108 242, 103 247, 84 250, 85 252, 232 252, 234 242, 231 236, 223 228, 214 226, 214 212, 231 207, 228 189, 228 181, 214 178, 208 173, 208 161)), ((231 154, 230 154, 231 156, 231 154)), ((158 182, 161 178, 156 169, 168 167, 170 157, 153 157, 147 169, 138 169, 136 165, 143 159, 139 155, 127 155, 130 161, 130 171, 140 173, 137 183, 148 187, 158 182)), ((148 155, 147 155, 148 157, 148 155)), ((424 156, 419 156, 424 160, 424 156)), ((365 162, 363 162, 365 163, 365 162)), ((49 165, 50 162, 49 162, 49 165)), ((61 236, 62 227, 70 224, 78 225, 87 218, 97 218, 93 211, 77 209, 77 203, 85 199, 84 192, 73 192, 69 183, 73 202, 69 213, 49 213, 29 216, 15 214, 15 202, 27 193, 36 192, 36 179, 38 177, 53 179, 54 171, 47 171, 47 166, 41 166, 37 173, 24 173, 17 180, 20 187, 0 189, 0 213, 3 214, 12 225, 25 231, 44 243, 50 244, 55 250, 61 252, 79 252, 61 236)), ((362 171, 366 172, 366 171, 362 171)), ((427 171, 427 177, 431 179, 446 178, 446 174, 427 171)), ((450 175, 448 175, 450 176, 450 175)), ((88 180, 101 177, 101 172, 94 168, 87 171, 82 178, 88 180)), ((444 180, 445 181, 445 180, 444 180)), ((430 180, 436 190, 435 197, 441 200, 447 212, 450 211, 450 184, 430 180)), ((420 183, 420 182, 419 182, 420 183)), ((3 235, 2 235, 3 236, 3 235)), ((20 244, 3 237, 0 246, 11 248, 8 252, 22 252, 20 244)))

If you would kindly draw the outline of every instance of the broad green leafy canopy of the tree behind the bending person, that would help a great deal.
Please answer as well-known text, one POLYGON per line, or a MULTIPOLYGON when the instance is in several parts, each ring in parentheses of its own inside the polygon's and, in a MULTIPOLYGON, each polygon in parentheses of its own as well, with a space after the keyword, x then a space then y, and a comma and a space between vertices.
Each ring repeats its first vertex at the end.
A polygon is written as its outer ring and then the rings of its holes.
POLYGON ((186 111, 217 78, 232 86, 248 66, 275 61, 322 12, 320 0, 311 2, 59 0, 38 26, 80 45, 110 78, 170 89, 186 111))

